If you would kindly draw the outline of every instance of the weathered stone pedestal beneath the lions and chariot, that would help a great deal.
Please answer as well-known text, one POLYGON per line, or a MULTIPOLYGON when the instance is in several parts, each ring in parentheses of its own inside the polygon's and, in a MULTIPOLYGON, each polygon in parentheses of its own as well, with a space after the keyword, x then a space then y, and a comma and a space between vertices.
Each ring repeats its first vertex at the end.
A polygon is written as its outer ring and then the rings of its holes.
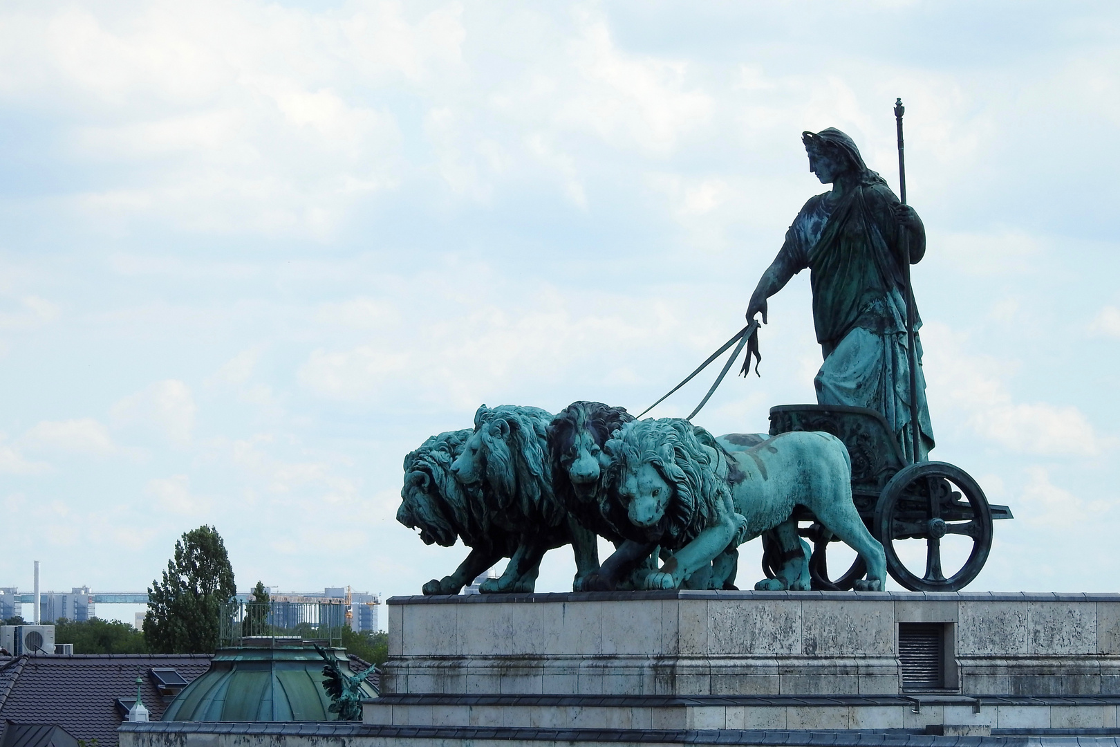
POLYGON ((1120 706, 1117 595, 404 597, 389 631, 370 725, 1065 734, 1120 706), (906 679, 913 634, 935 682, 906 679))

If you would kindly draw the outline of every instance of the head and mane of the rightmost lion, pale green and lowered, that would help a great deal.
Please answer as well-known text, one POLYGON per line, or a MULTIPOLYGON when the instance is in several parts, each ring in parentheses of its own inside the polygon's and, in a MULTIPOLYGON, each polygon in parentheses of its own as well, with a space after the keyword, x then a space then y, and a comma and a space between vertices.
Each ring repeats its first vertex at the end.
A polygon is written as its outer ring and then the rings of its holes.
POLYGON ((633 421, 606 443, 629 539, 676 550, 719 513, 734 512, 728 465, 716 439, 688 420, 633 421))

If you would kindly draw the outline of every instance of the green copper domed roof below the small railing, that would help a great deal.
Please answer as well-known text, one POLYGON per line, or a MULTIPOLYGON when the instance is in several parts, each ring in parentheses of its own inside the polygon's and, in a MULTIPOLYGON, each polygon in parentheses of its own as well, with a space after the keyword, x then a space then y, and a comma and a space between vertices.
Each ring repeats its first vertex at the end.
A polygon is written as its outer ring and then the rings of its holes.
MULTIPOLYGON (((246 639, 248 642, 248 639, 246 639)), ((311 643, 258 639, 256 645, 218 648, 209 671, 184 688, 164 721, 334 721, 323 689, 325 662, 311 643)), ((352 671, 343 648, 327 648, 343 672, 352 671)), ((368 698, 377 692, 362 684, 368 698)))

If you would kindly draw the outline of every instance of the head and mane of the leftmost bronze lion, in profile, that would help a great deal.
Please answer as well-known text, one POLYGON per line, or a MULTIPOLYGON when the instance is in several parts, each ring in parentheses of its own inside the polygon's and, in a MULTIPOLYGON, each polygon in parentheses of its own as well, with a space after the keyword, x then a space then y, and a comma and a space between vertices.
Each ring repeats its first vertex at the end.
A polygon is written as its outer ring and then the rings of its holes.
POLYGON ((404 487, 396 521, 419 529, 424 544, 449 548, 459 534, 472 533, 469 496, 450 473, 451 461, 472 432, 468 428, 432 436, 404 457, 404 487))

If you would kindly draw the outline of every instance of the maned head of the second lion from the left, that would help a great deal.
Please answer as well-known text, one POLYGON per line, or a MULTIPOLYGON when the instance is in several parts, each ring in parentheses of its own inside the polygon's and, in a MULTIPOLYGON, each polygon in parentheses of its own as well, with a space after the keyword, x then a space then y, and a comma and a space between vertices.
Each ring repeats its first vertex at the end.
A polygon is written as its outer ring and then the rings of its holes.
POLYGON ((465 486, 479 486, 500 515, 513 513, 549 526, 563 520, 552 493, 545 428, 552 414, 540 408, 503 404, 475 413, 475 431, 451 463, 465 486))

